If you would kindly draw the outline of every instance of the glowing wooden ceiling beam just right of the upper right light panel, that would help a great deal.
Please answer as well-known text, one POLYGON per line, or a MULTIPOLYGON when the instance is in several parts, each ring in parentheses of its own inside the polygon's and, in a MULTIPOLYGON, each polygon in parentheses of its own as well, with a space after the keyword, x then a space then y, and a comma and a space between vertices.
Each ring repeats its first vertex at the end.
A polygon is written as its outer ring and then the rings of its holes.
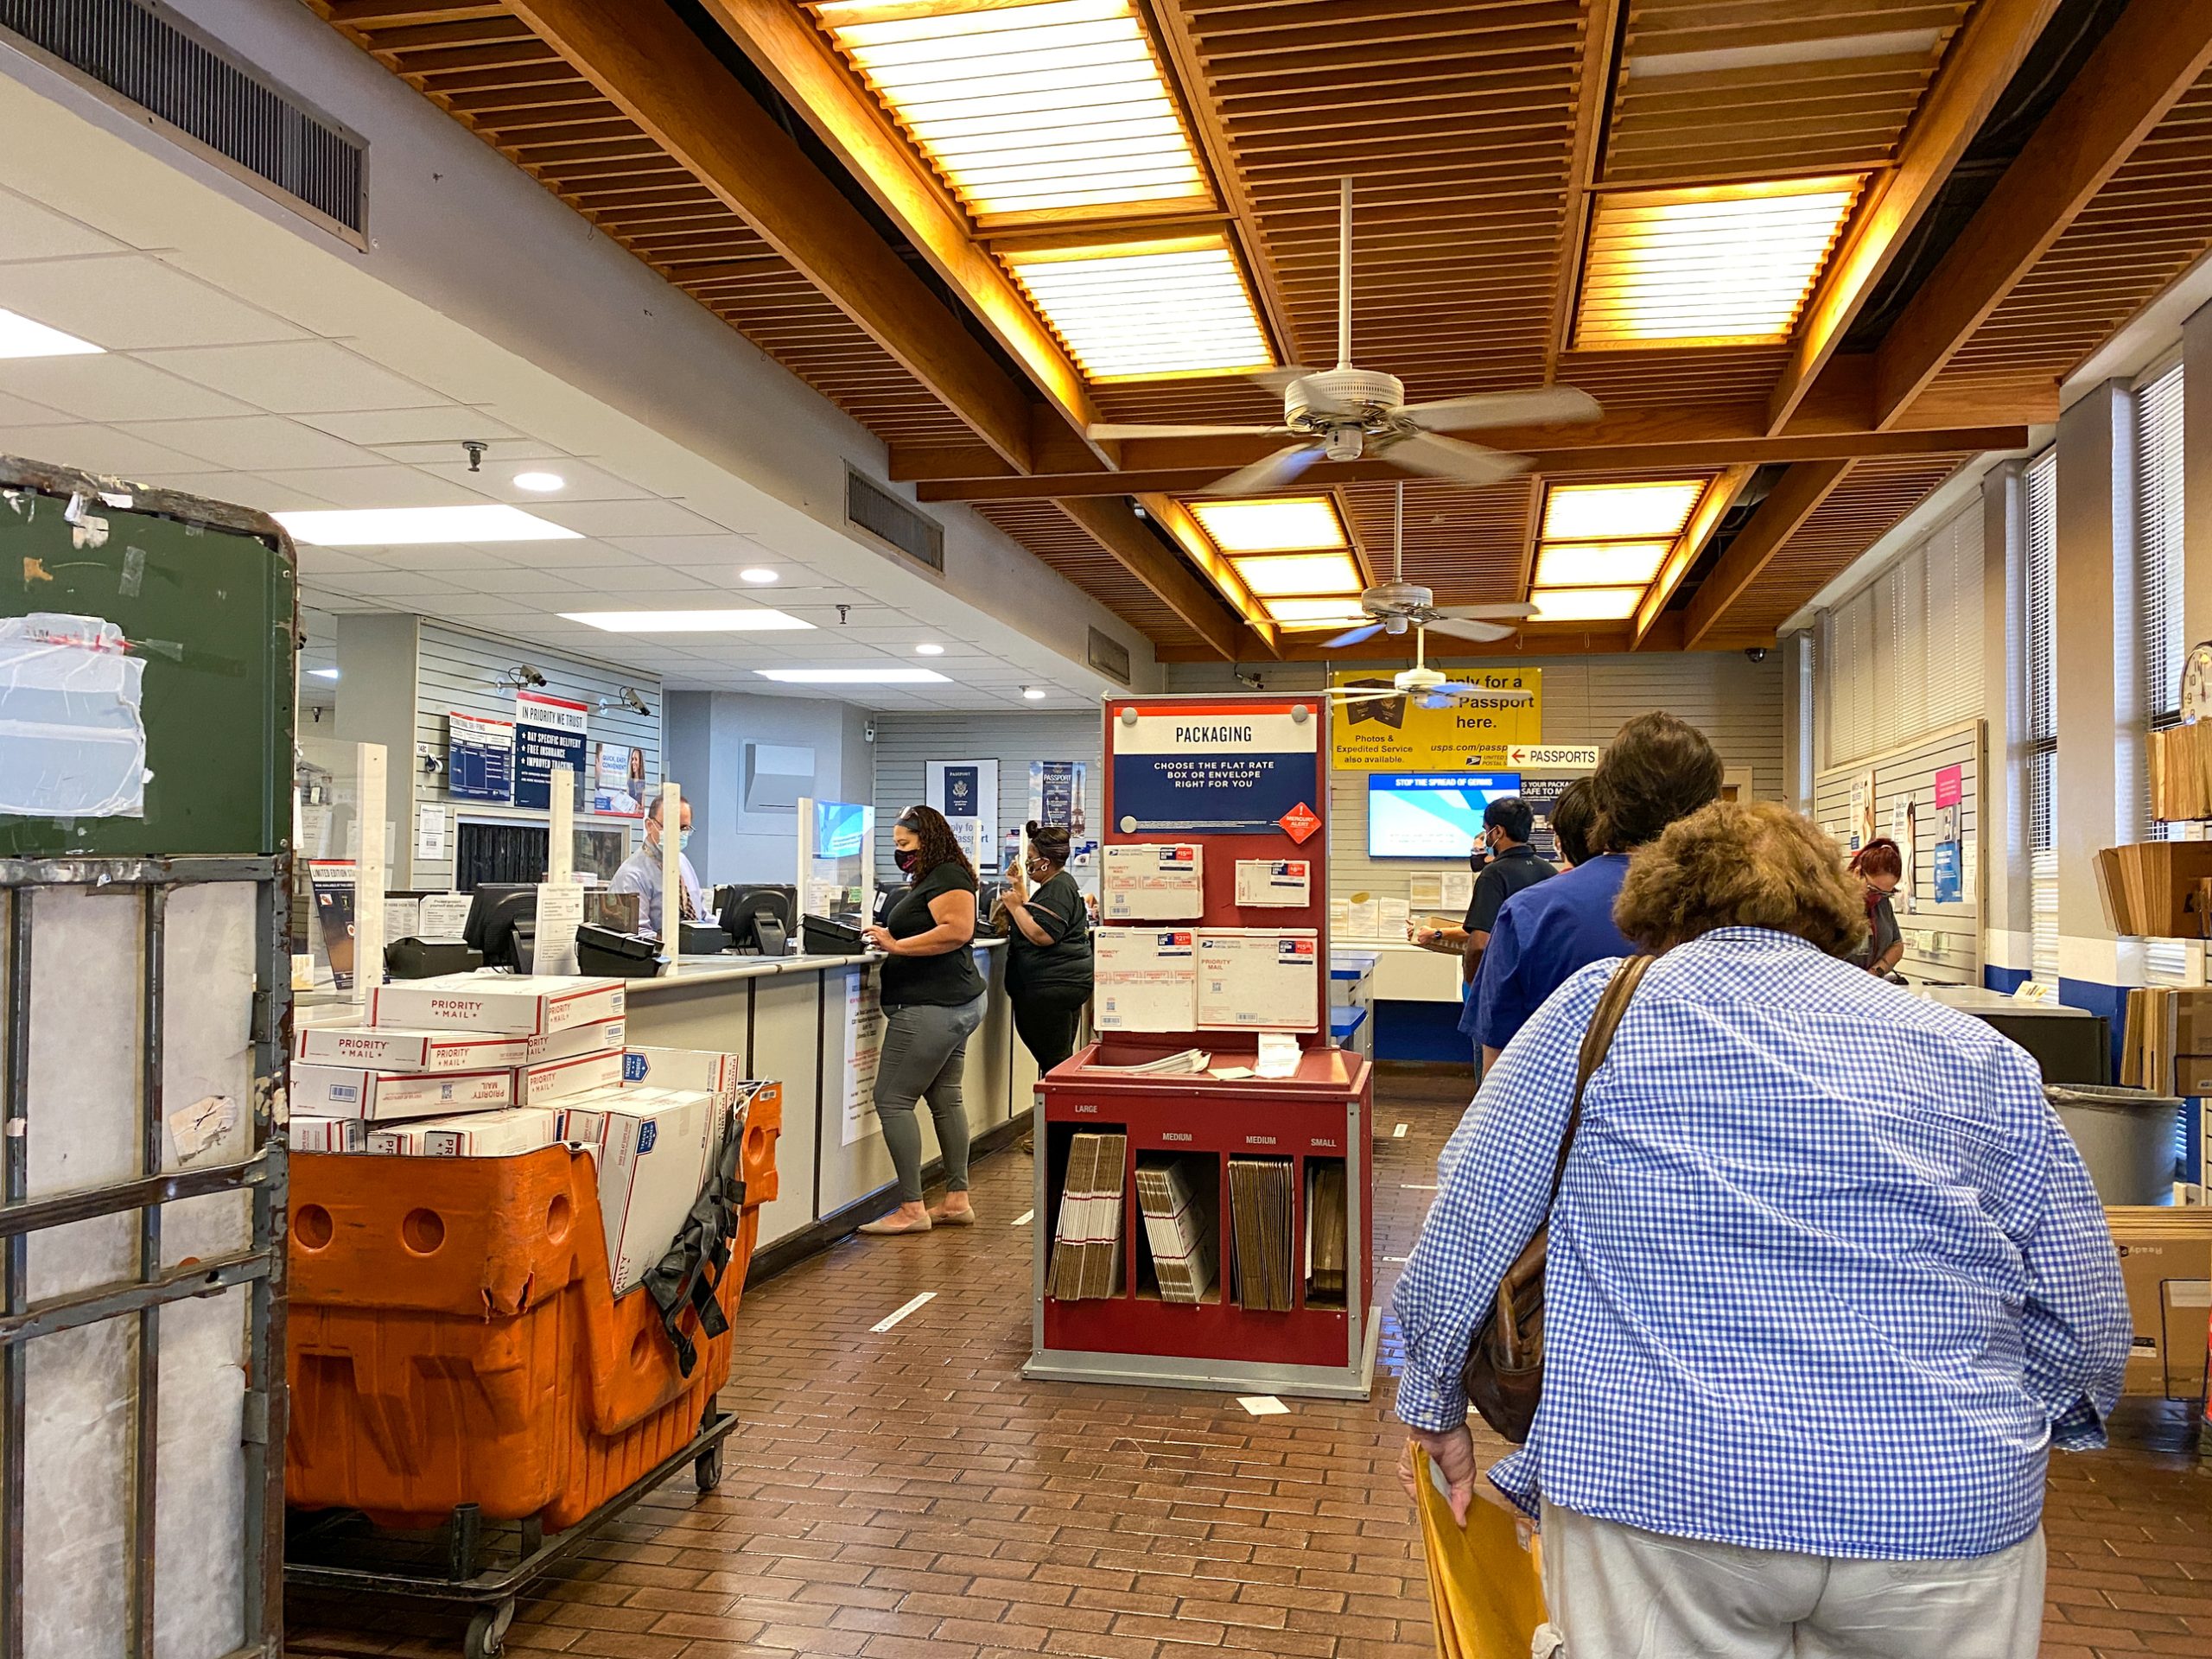
POLYGON ((1805 305, 1790 341, 1790 363, 1767 398, 1767 431, 1781 431, 1796 414, 2053 11, 2057 0, 1984 0, 1969 13, 1905 131, 1898 164, 1874 184, 1871 199, 1860 204, 1805 305))

